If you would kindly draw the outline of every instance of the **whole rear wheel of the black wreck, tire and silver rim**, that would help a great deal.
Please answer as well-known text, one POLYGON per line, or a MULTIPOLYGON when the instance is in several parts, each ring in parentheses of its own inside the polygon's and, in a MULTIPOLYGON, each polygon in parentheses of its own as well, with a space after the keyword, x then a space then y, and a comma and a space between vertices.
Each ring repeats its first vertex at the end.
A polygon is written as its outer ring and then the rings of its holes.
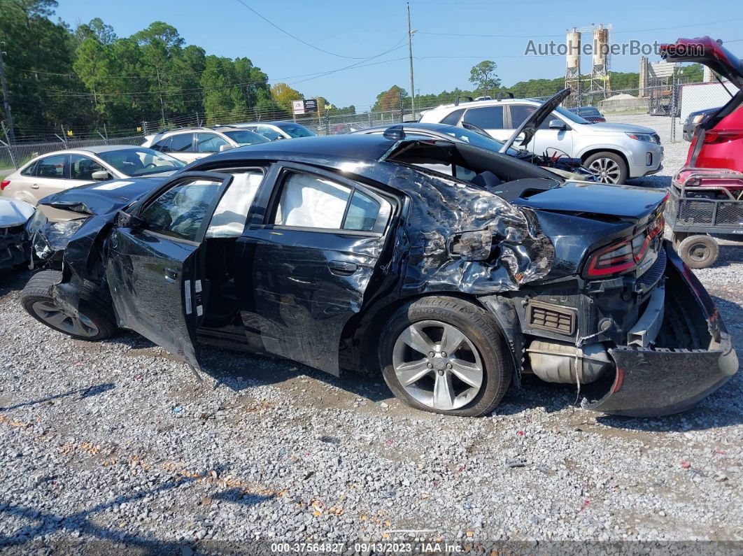
POLYGON ((507 341, 481 307, 432 296, 401 307, 380 345, 385 382, 407 405, 481 416, 501 401, 512 373, 507 341))

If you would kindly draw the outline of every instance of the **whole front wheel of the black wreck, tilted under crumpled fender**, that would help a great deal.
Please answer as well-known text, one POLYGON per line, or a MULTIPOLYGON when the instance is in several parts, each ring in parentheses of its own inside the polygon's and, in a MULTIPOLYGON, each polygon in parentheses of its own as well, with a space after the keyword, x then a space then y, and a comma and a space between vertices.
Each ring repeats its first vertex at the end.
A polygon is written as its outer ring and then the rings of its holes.
POLYGON ((31 276, 21 293, 21 303, 27 313, 73 338, 97 341, 114 336, 116 320, 107 296, 86 283, 80 294, 80 310, 69 310, 51 295, 53 284, 58 284, 61 278, 62 272, 58 270, 45 270, 31 276))

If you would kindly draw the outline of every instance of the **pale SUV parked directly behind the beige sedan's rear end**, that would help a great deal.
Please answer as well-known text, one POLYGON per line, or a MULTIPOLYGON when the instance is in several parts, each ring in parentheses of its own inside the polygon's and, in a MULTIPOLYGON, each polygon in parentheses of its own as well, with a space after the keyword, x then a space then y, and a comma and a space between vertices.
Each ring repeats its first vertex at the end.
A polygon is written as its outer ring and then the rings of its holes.
POLYGON ((192 163, 215 152, 230 148, 267 143, 267 139, 249 129, 230 125, 213 128, 180 128, 148 135, 143 147, 165 152, 184 163, 192 163))

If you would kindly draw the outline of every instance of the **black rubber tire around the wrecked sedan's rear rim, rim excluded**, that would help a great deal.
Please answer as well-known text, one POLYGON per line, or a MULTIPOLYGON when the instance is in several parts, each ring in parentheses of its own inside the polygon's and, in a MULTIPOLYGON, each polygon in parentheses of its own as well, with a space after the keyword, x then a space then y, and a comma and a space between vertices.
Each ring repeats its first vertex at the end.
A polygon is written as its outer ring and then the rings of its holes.
POLYGON ((513 373, 508 343, 487 311, 468 301, 438 295, 406 304, 392 315, 383 331, 379 358, 384 380, 398 399, 413 408, 446 415, 487 415, 505 395, 513 373), (476 347, 484 367, 483 381, 476 396, 467 405, 452 410, 434 409, 410 396, 400 383, 392 361, 395 342, 403 331, 419 321, 440 321, 453 325, 476 347))

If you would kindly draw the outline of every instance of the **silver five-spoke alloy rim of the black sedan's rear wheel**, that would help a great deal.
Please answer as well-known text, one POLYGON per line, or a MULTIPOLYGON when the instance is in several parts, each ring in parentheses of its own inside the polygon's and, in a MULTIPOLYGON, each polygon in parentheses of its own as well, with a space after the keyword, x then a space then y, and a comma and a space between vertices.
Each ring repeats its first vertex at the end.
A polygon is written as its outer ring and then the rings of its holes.
POLYGON ((483 385, 476 347, 457 327, 441 321, 418 321, 403 330, 392 366, 406 393, 435 410, 467 405, 483 385))

